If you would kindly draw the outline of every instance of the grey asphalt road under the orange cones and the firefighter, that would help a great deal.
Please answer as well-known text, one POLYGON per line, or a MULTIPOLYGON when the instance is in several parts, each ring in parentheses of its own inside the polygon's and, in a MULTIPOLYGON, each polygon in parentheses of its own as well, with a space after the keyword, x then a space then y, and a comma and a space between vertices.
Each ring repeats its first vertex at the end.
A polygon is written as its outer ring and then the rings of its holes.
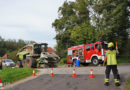
POLYGON ((81 67, 76 69, 77 77, 72 77, 73 68, 55 68, 55 77, 50 77, 50 69, 38 77, 8 88, 8 90, 125 90, 125 80, 130 76, 130 66, 118 67, 121 75, 121 86, 114 85, 111 75, 110 86, 104 86, 105 67, 81 67), (93 68, 95 78, 89 78, 89 70, 93 68), (66 73, 66 74, 65 74, 66 73))

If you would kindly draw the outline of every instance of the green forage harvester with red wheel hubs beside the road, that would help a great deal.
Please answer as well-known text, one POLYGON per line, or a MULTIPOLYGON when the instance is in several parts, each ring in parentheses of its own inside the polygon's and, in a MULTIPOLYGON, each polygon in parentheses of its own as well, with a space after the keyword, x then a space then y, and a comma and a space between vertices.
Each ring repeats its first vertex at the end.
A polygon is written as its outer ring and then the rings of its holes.
POLYGON ((26 45, 17 56, 19 60, 16 66, 21 67, 54 67, 59 62, 59 56, 54 52, 47 51, 47 43, 34 43, 26 45))

